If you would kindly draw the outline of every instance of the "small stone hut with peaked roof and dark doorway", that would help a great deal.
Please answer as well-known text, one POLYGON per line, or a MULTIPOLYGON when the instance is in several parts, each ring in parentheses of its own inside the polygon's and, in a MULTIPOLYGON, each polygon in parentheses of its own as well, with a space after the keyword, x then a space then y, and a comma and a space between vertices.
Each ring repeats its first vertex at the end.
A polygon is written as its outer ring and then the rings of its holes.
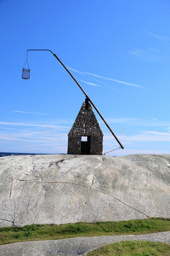
POLYGON ((102 154, 103 133, 88 98, 68 134, 67 154, 102 154))

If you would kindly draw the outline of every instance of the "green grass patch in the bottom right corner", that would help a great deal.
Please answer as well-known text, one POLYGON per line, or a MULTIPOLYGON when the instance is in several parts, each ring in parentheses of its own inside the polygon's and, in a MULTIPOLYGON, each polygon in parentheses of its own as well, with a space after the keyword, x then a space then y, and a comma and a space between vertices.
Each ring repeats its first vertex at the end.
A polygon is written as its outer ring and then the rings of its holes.
POLYGON ((88 256, 150 256, 150 255, 170 255, 170 245, 151 241, 121 241, 101 247, 88 256))

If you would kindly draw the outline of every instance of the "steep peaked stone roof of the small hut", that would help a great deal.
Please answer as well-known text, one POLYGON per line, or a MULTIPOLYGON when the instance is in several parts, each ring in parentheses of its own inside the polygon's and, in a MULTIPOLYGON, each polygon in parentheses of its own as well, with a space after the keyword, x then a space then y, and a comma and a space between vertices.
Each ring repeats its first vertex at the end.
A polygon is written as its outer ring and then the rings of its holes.
POLYGON ((86 109, 86 103, 84 102, 82 103, 82 108, 77 114, 77 119, 72 125, 68 136, 76 137, 90 135, 103 137, 103 133, 99 127, 98 120, 95 117, 91 104, 88 102, 88 109, 86 109))

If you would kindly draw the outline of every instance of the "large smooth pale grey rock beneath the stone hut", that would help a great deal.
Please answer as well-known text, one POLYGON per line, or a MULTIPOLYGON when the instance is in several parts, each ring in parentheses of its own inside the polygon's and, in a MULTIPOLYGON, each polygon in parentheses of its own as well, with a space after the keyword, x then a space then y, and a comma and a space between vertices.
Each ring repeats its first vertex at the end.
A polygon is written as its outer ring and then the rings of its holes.
POLYGON ((170 154, 0 158, 0 226, 170 218, 170 154))

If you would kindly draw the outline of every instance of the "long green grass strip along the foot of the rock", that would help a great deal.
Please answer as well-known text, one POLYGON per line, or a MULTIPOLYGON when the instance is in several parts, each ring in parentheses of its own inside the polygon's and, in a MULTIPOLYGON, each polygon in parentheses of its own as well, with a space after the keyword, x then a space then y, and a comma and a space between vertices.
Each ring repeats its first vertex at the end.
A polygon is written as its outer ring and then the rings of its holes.
POLYGON ((18 241, 53 240, 80 236, 113 236, 170 231, 170 218, 77 224, 32 224, 0 228, 0 245, 18 241))

